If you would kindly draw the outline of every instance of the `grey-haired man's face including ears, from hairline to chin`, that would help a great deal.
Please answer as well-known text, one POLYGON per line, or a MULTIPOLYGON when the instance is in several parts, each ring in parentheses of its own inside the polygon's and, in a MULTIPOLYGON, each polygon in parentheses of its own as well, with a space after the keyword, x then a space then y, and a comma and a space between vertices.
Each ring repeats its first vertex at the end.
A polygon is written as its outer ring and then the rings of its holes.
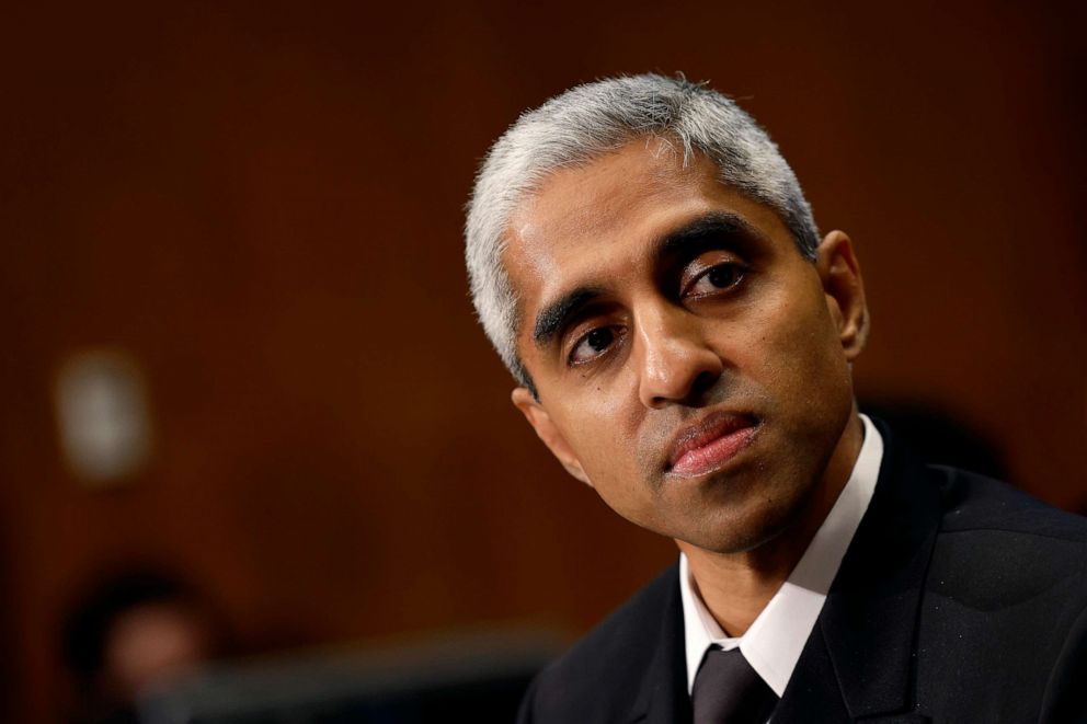
POLYGON ((558 171, 514 215, 503 262, 539 392, 514 402, 545 443, 629 520, 739 552, 826 484, 863 296, 848 238, 812 264, 716 175, 647 139, 558 171))

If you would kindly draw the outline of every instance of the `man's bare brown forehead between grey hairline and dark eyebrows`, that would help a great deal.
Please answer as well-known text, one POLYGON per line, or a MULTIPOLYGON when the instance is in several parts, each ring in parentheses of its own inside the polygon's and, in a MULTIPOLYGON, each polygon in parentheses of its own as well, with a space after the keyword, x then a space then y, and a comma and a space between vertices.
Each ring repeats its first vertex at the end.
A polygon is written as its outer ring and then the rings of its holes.
POLYGON ((712 161, 696 154, 684 166, 662 139, 554 172, 511 218, 503 263, 522 302, 518 327, 572 287, 621 283, 651 261, 654 241, 712 211, 791 239, 771 209, 722 184, 712 161))

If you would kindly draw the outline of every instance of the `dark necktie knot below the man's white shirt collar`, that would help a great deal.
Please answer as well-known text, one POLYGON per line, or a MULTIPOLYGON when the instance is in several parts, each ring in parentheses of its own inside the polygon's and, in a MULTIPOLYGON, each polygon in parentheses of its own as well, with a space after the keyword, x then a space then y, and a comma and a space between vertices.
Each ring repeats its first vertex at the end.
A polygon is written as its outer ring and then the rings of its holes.
POLYGON ((695 724, 765 724, 778 703, 739 648, 717 646, 702 657, 690 697, 695 724))

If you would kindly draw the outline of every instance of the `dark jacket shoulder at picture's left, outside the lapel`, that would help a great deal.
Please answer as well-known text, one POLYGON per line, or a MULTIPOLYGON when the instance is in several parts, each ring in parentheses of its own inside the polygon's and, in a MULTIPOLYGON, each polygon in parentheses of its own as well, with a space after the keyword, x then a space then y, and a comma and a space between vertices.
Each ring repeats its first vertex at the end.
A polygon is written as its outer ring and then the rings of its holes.
POLYGON ((678 599, 678 565, 672 565, 536 677, 518 721, 604 722, 629 710, 678 599))

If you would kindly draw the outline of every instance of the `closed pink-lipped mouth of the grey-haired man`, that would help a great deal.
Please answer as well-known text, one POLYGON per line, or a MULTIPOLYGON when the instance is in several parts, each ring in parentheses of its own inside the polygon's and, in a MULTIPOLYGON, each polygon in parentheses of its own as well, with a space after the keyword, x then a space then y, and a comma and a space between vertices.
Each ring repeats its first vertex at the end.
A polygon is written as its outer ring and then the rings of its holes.
POLYGON ((676 435, 665 471, 677 478, 697 478, 719 470, 751 444, 758 424, 753 415, 709 415, 676 435))

